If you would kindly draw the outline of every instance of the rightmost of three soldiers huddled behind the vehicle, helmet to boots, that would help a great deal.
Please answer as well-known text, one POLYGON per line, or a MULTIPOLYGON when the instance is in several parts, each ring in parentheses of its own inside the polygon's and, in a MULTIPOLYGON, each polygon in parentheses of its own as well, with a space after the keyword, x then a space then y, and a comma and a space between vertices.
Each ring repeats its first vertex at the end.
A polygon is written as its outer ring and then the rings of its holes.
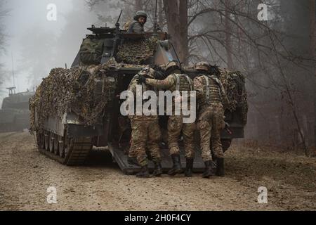
POLYGON ((224 176, 224 154, 220 141, 220 133, 225 128, 225 108, 229 101, 223 84, 220 82, 220 72, 216 66, 201 62, 195 65, 198 76, 194 79, 197 101, 199 103, 199 121, 197 127, 201 134, 202 158, 206 169, 205 178, 213 175, 213 160, 216 162, 216 175, 224 176), (212 160, 210 141, 214 159, 212 160))

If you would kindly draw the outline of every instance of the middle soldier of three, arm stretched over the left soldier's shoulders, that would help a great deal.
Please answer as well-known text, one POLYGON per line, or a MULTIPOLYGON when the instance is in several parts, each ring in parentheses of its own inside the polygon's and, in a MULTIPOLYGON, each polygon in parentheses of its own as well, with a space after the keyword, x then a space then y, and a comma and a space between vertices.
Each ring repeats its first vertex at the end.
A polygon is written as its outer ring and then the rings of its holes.
MULTIPOLYGON (((193 82, 190 77, 185 74, 182 74, 180 66, 178 63, 172 61, 165 66, 166 75, 169 75, 164 80, 157 79, 145 79, 142 77, 141 82, 154 86, 157 89, 165 89, 168 91, 190 91, 193 90, 193 82)), ((173 99, 174 105, 175 99, 173 99)), ((190 104, 188 104, 190 105, 190 104)), ((192 124, 183 123, 183 115, 175 115, 173 109, 173 115, 169 117, 168 123, 168 144, 171 158, 173 160, 173 168, 168 172, 170 176, 175 176, 183 172, 180 164, 180 148, 178 146, 178 139, 183 133, 183 141, 185 146, 185 158, 186 158, 186 169, 185 176, 192 176, 193 162, 195 159, 195 146, 193 143, 194 132, 195 132, 195 122, 192 124)))

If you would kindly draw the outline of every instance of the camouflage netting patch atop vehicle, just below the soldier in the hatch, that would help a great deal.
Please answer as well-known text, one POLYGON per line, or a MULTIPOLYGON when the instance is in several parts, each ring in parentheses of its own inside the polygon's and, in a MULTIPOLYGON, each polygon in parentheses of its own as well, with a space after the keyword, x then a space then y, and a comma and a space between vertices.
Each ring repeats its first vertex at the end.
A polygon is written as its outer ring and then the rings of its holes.
POLYGON ((145 64, 146 60, 154 56, 157 43, 158 39, 154 37, 125 41, 119 46, 116 59, 127 64, 145 64))

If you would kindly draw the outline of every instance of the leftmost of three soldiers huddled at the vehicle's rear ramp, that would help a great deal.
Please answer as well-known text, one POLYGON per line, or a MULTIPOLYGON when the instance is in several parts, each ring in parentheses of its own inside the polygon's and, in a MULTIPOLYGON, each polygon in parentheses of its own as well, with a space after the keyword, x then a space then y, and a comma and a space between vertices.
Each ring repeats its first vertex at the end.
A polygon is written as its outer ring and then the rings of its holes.
MULTIPOLYGON (((138 75, 133 77, 131 84, 129 84, 129 91, 132 91, 136 98, 143 98, 143 93, 140 96, 136 96, 136 86, 140 85, 144 91, 153 91, 152 87, 146 84, 140 84, 138 82, 139 76, 145 76, 154 78, 153 73, 147 68, 142 70, 138 75)), ((145 100, 143 101, 143 103, 145 100)), ((143 113, 142 113, 143 114, 143 113)), ((157 115, 130 115, 131 120, 131 152, 129 154, 130 158, 136 155, 136 160, 138 165, 140 165, 141 171, 136 174, 140 178, 148 178, 150 176, 148 170, 148 160, 146 147, 150 151, 152 161, 154 162, 154 172, 153 176, 160 176, 162 174, 162 159, 159 149, 159 141, 161 138, 160 127, 159 127, 159 117, 157 115)))

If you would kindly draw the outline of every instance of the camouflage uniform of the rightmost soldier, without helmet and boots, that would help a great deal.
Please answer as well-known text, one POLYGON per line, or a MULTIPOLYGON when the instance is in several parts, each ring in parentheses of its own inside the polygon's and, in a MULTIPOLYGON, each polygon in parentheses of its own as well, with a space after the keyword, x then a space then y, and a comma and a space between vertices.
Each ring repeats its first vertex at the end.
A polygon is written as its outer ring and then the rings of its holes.
POLYGON ((202 158, 204 162, 212 160, 210 141, 214 155, 224 158, 220 133, 225 128, 224 108, 228 107, 229 101, 223 84, 214 75, 199 75, 194 84, 199 103, 197 128, 201 134, 202 158))

